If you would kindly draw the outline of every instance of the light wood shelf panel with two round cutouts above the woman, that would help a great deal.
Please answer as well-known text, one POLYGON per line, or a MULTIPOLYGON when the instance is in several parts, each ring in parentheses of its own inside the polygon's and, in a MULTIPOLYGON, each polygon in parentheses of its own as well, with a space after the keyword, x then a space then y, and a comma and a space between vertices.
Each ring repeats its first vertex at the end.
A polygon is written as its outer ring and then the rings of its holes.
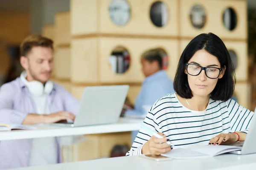
POLYGON ((213 32, 221 38, 247 39, 247 1, 246 0, 180 0, 180 36, 195 37, 201 33, 213 32), (189 13, 192 6, 201 5, 206 11, 206 23, 201 29, 191 24, 189 13), (226 8, 236 11, 237 26, 233 31, 224 27, 222 15, 226 8))

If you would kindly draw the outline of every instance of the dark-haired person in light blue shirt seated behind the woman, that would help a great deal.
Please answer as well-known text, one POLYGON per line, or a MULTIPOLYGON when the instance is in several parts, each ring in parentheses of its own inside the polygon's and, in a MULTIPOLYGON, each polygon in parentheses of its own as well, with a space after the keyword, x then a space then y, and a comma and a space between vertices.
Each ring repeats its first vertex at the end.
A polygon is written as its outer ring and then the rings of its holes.
MULTIPOLYGON (((152 49, 146 51, 142 55, 141 64, 145 80, 136 98, 134 109, 127 109, 125 116, 144 116, 145 118, 150 107, 157 99, 175 92, 173 81, 163 70, 163 58, 160 50, 152 49)), ((138 131, 132 132, 132 142, 137 133, 138 131)))

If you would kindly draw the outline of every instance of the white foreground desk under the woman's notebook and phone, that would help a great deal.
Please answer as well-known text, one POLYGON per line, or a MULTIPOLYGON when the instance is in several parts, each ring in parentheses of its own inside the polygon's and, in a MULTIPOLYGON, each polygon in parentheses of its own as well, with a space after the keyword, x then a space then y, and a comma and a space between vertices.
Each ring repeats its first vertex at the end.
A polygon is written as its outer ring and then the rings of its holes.
POLYGON ((96 159, 19 170, 255 170, 256 154, 220 156, 171 161, 152 161, 138 156, 96 159))

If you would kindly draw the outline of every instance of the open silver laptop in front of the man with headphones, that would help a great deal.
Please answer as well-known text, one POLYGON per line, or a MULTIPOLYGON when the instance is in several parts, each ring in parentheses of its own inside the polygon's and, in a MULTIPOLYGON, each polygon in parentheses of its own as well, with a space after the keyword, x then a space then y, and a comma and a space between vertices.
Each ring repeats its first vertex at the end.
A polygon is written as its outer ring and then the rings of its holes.
POLYGON ((119 120, 129 85, 90 86, 84 89, 74 122, 51 125, 79 127, 116 123, 119 120))

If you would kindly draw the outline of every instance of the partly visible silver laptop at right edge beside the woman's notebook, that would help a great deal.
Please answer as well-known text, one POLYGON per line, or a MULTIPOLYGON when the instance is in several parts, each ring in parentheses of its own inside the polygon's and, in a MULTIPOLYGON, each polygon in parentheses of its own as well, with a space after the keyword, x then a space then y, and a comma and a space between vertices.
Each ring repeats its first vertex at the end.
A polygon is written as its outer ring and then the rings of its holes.
POLYGON ((256 119, 253 116, 250 122, 250 129, 249 132, 244 140, 244 142, 236 142, 231 144, 223 144, 223 145, 230 145, 230 146, 241 146, 242 149, 238 151, 232 151, 229 153, 239 154, 239 155, 247 155, 251 153, 256 153, 255 141, 256 141, 256 119))

